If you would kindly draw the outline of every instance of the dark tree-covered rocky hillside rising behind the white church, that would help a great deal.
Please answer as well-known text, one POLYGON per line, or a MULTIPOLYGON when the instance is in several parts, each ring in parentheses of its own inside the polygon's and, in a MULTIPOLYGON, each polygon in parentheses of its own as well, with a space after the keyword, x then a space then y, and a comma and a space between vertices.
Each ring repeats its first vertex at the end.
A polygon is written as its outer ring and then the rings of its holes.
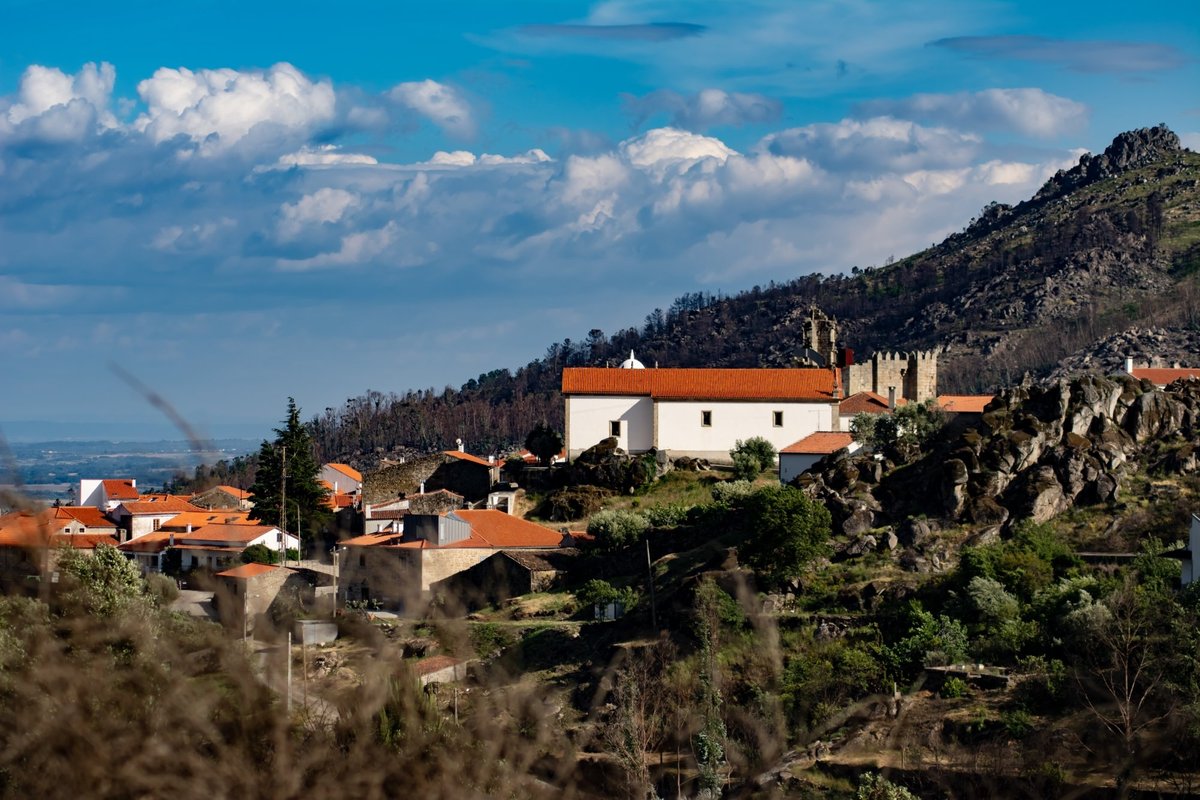
POLYGON ((799 326, 814 305, 859 357, 944 348, 944 392, 1044 375, 1122 332, 1132 332, 1126 351, 1104 350, 1093 366, 1174 353, 1200 324, 1200 155, 1165 127, 1122 133, 1028 200, 991 204, 961 233, 888 260, 733 296, 690 293, 641 327, 593 329, 458 389, 371 391, 318 414, 313 439, 320 458, 360 465, 456 439, 476 452, 516 446, 541 421, 562 429, 563 367, 616 365, 630 350, 664 367, 788 366, 803 356, 799 326), (1165 332, 1141 341, 1150 329, 1165 332))

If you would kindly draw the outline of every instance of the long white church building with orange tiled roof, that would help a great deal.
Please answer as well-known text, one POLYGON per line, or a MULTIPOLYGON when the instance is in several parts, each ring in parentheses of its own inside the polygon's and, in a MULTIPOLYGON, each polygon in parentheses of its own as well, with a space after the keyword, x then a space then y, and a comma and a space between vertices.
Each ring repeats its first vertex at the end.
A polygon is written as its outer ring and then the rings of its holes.
POLYGON ((742 439, 762 437, 782 450, 817 431, 836 431, 836 372, 798 369, 563 369, 570 458, 613 437, 630 453, 667 451, 728 462, 742 439))

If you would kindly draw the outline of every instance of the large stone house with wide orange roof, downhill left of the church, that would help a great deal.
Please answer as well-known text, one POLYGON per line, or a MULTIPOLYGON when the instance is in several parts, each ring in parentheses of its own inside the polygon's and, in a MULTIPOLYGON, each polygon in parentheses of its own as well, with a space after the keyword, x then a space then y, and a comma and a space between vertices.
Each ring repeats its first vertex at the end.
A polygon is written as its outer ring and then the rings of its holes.
POLYGON ((494 509, 408 515, 403 534, 366 534, 338 552, 342 602, 377 602, 412 613, 439 581, 502 551, 554 551, 569 535, 494 509))

